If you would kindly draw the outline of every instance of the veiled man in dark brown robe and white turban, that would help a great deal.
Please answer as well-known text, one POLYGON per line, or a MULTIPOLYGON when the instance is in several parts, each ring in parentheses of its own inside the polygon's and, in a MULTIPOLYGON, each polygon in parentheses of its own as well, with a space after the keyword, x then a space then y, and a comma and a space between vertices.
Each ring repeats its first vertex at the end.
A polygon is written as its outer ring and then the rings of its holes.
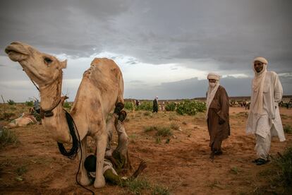
POLYGON ((229 137, 229 97, 224 87, 219 84, 220 76, 217 73, 209 73, 209 88, 207 91, 207 126, 209 130, 211 148, 210 158, 221 155, 222 141, 229 137))

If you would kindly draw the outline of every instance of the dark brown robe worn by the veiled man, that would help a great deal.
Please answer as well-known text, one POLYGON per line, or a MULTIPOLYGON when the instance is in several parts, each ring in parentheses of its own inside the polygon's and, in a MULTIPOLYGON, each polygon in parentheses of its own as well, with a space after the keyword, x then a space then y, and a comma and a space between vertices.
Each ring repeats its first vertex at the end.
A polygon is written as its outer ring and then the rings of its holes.
POLYGON ((210 136, 210 147, 212 147, 214 142, 221 142, 230 135, 229 97, 221 85, 209 107, 207 126, 210 136), (224 120, 224 124, 219 124, 219 119, 224 120))

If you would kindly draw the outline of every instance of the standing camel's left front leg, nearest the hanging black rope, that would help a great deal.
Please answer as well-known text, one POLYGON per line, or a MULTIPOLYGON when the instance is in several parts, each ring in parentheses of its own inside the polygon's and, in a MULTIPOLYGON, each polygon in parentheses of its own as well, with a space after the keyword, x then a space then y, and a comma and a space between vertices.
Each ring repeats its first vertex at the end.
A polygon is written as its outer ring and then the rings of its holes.
MULTIPOLYGON (((84 161, 85 161, 85 158, 87 157, 86 154, 87 154, 87 137, 85 136, 85 138, 83 138, 83 140, 81 141, 81 149, 82 149, 82 160, 81 160, 81 164, 80 164, 80 174, 81 174, 81 177, 80 177, 80 184, 82 184, 83 186, 87 186, 90 184, 90 179, 88 178, 88 175, 87 175, 87 170, 85 170, 85 167, 84 167, 84 161)), ((79 159, 80 159, 80 150, 79 150, 79 159)))

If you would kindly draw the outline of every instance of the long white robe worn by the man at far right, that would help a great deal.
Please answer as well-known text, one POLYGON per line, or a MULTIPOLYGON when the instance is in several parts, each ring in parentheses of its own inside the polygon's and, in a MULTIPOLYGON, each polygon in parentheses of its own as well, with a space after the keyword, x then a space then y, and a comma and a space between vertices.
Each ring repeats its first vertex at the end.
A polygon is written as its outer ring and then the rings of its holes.
MULTIPOLYGON (((255 92, 252 91, 251 102, 253 102, 255 92)), ((279 112, 279 102, 281 102, 283 88, 279 76, 274 71, 267 71, 264 78, 263 89, 263 112, 255 114, 250 110, 246 126, 247 134, 258 134, 266 138, 268 131, 272 136, 278 136, 280 141, 285 141, 284 130, 279 112), (266 118, 267 122, 262 122, 266 118)))

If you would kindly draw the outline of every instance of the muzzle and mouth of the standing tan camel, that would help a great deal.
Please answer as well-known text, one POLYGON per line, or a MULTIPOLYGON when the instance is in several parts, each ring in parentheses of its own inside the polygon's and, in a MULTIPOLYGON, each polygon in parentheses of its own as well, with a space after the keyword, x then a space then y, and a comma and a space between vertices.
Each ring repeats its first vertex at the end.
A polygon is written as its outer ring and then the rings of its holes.
POLYGON ((28 52, 23 47, 23 45, 16 43, 11 43, 5 49, 6 54, 12 61, 22 61, 28 57, 28 52))

